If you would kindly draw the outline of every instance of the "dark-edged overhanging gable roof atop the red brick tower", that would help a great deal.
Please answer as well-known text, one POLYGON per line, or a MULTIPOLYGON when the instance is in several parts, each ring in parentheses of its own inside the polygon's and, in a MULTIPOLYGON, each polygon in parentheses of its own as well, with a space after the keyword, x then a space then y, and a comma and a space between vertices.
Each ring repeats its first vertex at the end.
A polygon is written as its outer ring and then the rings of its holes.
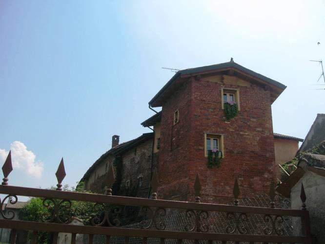
MULTIPOLYGON (((286 88, 286 86, 278 81, 274 81, 264 75, 256 73, 250 69, 245 68, 234 61, 224 62, 209 66, 197 67, 197 68, 190 68, 178 71, 164 86, 163 88, 150 100, 149 105, 152 107, 158 107, 162 105, 162 101, 159 99, 161 96, 170 88, 172 88, 172 84, 174 81, 178 80, 179 78, 189 77, 192 75, 198 75, 200 73, 212 73, 218 71, 226 71, 226 70, 234 70, 242 73, 242 75, 249 76, 257 81, 263 81, 264 83, 272 86, 275 88, 277 96, 279 96, 282 91, 286 88)), ((276 99, 276 98, 275 98, 276 99)))

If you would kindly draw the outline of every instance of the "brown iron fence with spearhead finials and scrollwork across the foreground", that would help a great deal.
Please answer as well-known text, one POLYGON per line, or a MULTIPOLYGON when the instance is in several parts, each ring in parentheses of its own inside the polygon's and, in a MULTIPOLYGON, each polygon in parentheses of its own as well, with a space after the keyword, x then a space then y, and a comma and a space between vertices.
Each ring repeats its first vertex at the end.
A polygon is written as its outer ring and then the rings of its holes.
POLYGON ((94 242, 94 235, 106 236, 106 244, 113 242, 129 244, 134 238, 137 238, 143 244, 153 242, 157 238, 160 243, 182 243, 183 240, 192 240, 196 243, 199 240, 208 243, 220 241, 223 244, 227 241, 236 244, 240 242, 249 242, 250 244, 260 242, 311 243, 309 214, 305 206, 306 197, 303 185, 301 188, 302 210, 293 210, 275 207, 274 182, 270 184, 269 207, 252 207, 239 205, 240 188, 237 179, 233 188, 234 202, 232 205, 224 205, 201 203, 201 184, 198 175, 194 184, 195 202, 180 202, 157 199, 159 182, 156 172, 154 172, 151 182, 151 199, 113 196, 111 188, 114 183, 112 164, 110 164, 108 170, 106 195, 62 191, 62 181, 65 177, 63 160, 61 160, 56 172, 58 179, 56 190, 8 185, 8 175, 12 171, 10 152, 2 171, 4 178, 2 185, 0 185, 0 194, 6 194, 6 197, 0 203, 0 214, 3 217, 0 220, 0 227, 12 229, 11 244, 15 243, 17 230, 32 231, 32 244, 37 243, 37 235, 40 231, 53 233, 54 244, 58 243, 59 232, 72 233, 71 243, 73 244, 76 243, 77 234, 88 234, 89 244, 94 242), (43 205, 48 208, 49 212, 46 220, 44 222, 13 220, 15 213, 4 212, 3 204, 7 199, 10 199, 11 204, 17 203, 18 196, 42 198, 43 205), (68 224, 73 216, 63 216, 60 206, 66 203, 65 207, 69 208, 73 204, 72 201, 91 202, 101 205, 102 214, 95 215, 91 220, 91 225, 68 224), (135 229, 123 226, 121 213, 122 208, 125 206, 138 206, 141 212, 144 213, 141 228, 135 229), (176 212, 184 215, 183 224, 177 224, 176 226, 167 223, 168 220, 165 217, 176 212), (210 221, 211 216, 215 214, 223 215, 225 220, 225 223, 220 223, 219 227, 222 227, 222 229, 219 232, 215 231, 216 228, 212 226, 213 224, 210 221), (257 218, 254 216, 262 216, 262 218, 259 218, 258 223, 256 223, 257 218), (297 226, 297 228, 300 228, 301 234, 299 236, 287 235, 284 231, 283 223, 287 218, 300 218, 300 224, 297 226), (251 228, 252 223, 255 223, 254 228, 251 228), (256 228, 262 234, 257 234, 256 228), (118 242, 116 238, 113 238, 117 236, 122 237, 118 242))

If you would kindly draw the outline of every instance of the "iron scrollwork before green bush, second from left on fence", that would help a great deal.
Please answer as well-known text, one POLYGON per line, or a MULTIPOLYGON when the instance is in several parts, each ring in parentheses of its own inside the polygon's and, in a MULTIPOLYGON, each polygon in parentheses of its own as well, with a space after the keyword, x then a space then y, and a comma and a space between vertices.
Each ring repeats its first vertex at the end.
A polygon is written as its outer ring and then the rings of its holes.
POLYGON ((56 200, 52 198, 43 199, 43 206, 48 209, 50 214, 48 216, 43 216, 43 222, 55 222, 55 223, 68 223, 71 220, 69 216, 69 210, 71 209, 70 200, 56 200))

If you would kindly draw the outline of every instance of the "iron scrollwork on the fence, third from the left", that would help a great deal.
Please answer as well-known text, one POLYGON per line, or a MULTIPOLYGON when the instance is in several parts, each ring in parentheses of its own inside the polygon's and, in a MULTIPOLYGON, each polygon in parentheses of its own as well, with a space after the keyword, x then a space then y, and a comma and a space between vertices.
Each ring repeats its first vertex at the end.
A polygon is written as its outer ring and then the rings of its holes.
POLYGON ((101 207, 103 212, 101 215, 96 215, 91 219, 91 224, 95 226, 102 226, 105 223, 110 227, 118 227, 121 225, 121 221, 119 219, 119 214, 122 209, 120 206, 110 205, 106 203, 96 203, 96 207, 101 207))

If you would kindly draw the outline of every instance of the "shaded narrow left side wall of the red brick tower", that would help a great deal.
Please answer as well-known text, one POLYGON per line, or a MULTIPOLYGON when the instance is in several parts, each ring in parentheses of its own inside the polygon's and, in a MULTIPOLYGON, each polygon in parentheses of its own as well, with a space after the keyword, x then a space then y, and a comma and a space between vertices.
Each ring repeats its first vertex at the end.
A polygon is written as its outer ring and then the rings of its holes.
POLYGON ((191 84, 185 83, 164 104, 158 175, 162 187, 159 198, 186 200, 191 147, 190 134, 191 84), (174 123, 174 112, 179 110, 179 122, 174 123))

